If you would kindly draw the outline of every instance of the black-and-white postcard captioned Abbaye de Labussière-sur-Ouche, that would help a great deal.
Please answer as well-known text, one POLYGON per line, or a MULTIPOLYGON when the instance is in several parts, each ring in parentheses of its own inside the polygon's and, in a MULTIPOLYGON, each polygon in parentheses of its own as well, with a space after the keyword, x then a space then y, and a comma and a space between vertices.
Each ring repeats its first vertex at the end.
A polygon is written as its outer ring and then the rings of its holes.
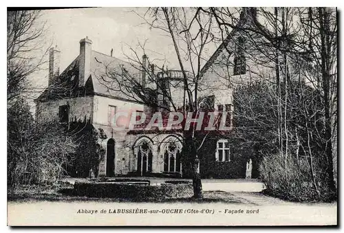
POLYGON ((8 8, 8 225, 337 225, 337 22, 8 8))

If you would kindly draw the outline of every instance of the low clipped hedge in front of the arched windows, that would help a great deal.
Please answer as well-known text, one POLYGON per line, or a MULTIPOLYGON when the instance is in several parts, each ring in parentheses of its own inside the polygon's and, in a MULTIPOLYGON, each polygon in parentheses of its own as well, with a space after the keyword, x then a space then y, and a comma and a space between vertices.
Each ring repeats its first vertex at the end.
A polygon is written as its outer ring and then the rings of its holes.
POLYGON ((191 197, 192 184, 162 184, 161 186, 118 184, 116 182, 76 181, 74 190, 78 196, 131 199, 133 201, 191 197))

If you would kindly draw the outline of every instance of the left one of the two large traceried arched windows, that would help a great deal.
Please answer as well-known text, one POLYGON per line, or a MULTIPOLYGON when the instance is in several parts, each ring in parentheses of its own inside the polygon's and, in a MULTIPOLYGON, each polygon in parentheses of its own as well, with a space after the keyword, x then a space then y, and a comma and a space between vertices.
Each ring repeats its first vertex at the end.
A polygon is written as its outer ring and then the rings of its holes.
POLYGON ((146 173, 151 173, 153 164, 153 153, 148 142, 142 142, 138 146, 138 173, 139 175, 144 175, 146 173))

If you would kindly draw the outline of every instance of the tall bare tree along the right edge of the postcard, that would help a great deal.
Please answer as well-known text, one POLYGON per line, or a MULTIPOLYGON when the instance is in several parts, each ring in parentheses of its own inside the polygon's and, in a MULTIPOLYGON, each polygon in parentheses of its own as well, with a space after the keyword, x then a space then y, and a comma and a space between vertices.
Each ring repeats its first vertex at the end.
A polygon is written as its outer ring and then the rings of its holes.
POLYGON ((327 157, 328 186, 334 184, 333 144, 337 130, 337 12, 332 8, 306 8, 299 12, 303 36, 297 41, 303 52, 303 76, 312 80, 314 88, 323 101, 324 113, 322 150, 327 157), (320 69, 319 69, 320 67, 320 69))

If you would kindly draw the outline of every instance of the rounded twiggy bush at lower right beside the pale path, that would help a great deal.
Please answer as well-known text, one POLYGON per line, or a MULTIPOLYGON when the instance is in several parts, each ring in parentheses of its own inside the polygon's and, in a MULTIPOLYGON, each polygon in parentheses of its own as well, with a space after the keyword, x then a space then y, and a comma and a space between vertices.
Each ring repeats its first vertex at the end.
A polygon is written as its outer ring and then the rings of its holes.
POLYGON ((314 159, 313 170, 305 158, 279 154, 264 157, 259 166, 261 180, 266 185, 264 193, 290 201, 331 201, 334 194, 327 187, 327 175, 319 161, 314 159))

